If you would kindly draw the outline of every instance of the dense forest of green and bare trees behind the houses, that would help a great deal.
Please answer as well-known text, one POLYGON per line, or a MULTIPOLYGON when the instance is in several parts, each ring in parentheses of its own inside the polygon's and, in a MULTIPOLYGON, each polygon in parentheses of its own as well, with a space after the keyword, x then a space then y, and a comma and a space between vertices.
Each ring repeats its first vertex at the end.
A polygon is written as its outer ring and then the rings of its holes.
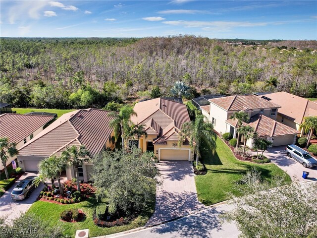
POLYGON ((16 107, 104 107, 147 97, 154 85, 167 95, 180 80, 211 93, 268 91, 270 77, 279 81, 273 90, 316 97, 316 48, 306 47, 316 41, 298 47, 300 42, 236 46, 194 36, 2 38, 0 100, 16 107))

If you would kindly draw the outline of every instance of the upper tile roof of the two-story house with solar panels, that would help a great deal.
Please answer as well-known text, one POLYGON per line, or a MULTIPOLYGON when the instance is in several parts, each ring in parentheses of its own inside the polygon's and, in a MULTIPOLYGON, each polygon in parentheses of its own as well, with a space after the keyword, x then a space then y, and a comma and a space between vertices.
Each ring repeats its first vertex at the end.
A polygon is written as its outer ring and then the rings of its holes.
POLYGON ((240 111, 245 109, 280 108, 278 104, 269 102, 256 95, 236 95, 209 100, 211 103, 226 111, 240 111))

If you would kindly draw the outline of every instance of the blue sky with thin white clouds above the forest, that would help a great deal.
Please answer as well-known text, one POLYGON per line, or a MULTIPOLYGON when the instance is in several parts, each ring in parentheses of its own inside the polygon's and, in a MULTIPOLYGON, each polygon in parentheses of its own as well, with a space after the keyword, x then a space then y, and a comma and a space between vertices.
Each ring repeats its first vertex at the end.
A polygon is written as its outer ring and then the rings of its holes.
POLYGON ((317 40, 317 1, 0 0, 3 37, 317 40))

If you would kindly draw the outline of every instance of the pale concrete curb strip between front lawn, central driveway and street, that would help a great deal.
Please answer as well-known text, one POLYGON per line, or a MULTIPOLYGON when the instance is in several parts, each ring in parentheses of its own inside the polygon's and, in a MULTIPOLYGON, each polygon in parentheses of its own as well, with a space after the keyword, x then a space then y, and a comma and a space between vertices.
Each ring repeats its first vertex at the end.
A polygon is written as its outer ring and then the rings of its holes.
POLYGON ((194 215, 194 214, 198 214, 198 213, 203 212, 203 211, 205 211, 205 210, 207 210, 207 209, 209 209, 211 207, 218 207, 218 206, 224 205, 227 202, 228 202, 228 200, 222 201, 222 202, 218 202, 218 203, 215 203, 215 204, 212 204, 212 205, 209 205, 209 206, 205 206, 204 208, 199 209, 197 211, 189 212, 189 213, 187 213, 185 215, 182 215, 182 216, 179 216, 179 217, 175 217, 175 218, 172 218, 172 219, 169 219, 169 220, 157 223, 157 224, 153 224, 153 225, 149 225, 149 226, 145 225, 143 227, 138 227, 138 228, 135 228, 135 229, 132 229, 132 230, 128 230, 128 231, 125 231, 125 232, 119 232, 119 233, 106 235, 106 236, 101 236, 101 237, 95 237, 95 238, 117 238, 117 237, 121 237, 121 236, 130 234, 130 233, 134 233, 134 232, 138 232, 138 231, 142 231, 142 230, 147 230, 147 229, 159 226, 159 225, 163 225, 163 224, 166 224, 166 223, 169 223, 169 222, 172 222, 172 221, 176 221, 176 220, 184 218, 184 217, 188 217, 188 216, 191 216, 191 215, 194 215))

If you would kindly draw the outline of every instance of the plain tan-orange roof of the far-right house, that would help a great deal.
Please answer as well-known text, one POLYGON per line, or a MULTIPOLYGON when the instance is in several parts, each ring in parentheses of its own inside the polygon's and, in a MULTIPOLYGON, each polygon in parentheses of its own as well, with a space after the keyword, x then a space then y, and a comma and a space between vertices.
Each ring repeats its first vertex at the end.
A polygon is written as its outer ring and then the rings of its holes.
POLYGON ((278 113, 298 124, 303 122, 304 117, 317 116, 317 104, 308 99, 286 92, 270 93, 263 96, 271 99, 269 102, 281 105, 278 113))

